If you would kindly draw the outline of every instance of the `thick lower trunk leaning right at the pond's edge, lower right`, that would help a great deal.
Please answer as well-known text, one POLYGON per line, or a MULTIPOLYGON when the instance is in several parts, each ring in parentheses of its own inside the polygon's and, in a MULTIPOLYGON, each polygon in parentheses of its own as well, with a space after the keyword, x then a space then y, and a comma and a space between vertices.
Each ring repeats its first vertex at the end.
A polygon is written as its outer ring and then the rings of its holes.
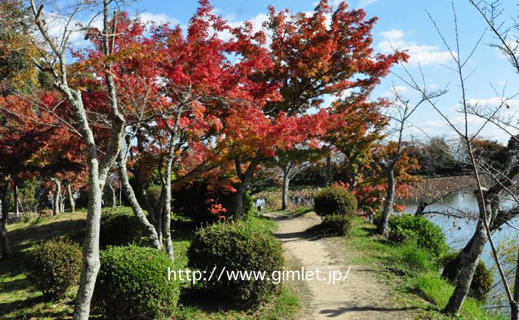
POLYGON ((483 252, 485 243, 486 232, 483 222, 480 220, 476 227, 476 233, 474 233, 470 249, 459 261, 459 263, 464 267, 459 274, 458 282, 456 282, 456 287, 454 287, 454 292, 451 294, 449 302, 447 302, 447 305, 445 306, 444 312, 446 314, 459 314, 465 297, 469 294, 472 278, 476 272, 479 257, 481 256, 481 252, 483 252))

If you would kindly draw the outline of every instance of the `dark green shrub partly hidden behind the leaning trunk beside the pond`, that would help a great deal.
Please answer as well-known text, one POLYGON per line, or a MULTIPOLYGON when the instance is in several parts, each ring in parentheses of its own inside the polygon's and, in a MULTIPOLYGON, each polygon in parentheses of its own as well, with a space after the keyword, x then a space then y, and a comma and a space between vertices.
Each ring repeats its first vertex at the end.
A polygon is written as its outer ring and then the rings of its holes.
MULTIPOLYGON (((442 258, 442 264, 444 267, 444 272, 442 272, 443 277, 446 277, 446 274, 447 272, 449 272, 449 270, 454 269, 454 267, 456 267, 455 260, 458 254, 459 252, 451 252, 442 258)), ((492 289, 492 285, 492 270, 490 270, 485 265, 485 262, 483 262, 483 260, 479 260, 478 266, 476 267, 476 272, 474 273, 474 277, 472 278, 469 295, 481 302, 484 302, 488 297, 488 293, 492 289)))

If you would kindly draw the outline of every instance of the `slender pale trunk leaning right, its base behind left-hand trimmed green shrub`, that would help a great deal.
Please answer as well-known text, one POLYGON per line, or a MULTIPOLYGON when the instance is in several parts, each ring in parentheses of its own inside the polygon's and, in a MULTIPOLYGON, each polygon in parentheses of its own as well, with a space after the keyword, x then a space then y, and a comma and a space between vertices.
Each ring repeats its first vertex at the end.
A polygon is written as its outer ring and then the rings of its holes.
POLYGON ((161 250, 162 246, 161 242, 159 241, 157 232, 154 226, 151 223, 149 223, 148 219, 146 218, 146 215, 144 215, 144 211, 139 205, 139 201, 137 201, 137 198, 135 197, 134 189, 129 183, 128 172, 126 168, 126 156, 124 156, 123 151, 119 152, 119 156, 117 158, 117 171, 119 173, 119 181, 121 184, 122 191, 124 192, 124 196, 126 196, 126 198, 128 199, 130 206, 132 207, 132 210, 134 212, 134 215, 137 215, 139 223, 141 223, 144 230, 146 230, 148 238, 153 244, 153 246, 157 250, 161 250))

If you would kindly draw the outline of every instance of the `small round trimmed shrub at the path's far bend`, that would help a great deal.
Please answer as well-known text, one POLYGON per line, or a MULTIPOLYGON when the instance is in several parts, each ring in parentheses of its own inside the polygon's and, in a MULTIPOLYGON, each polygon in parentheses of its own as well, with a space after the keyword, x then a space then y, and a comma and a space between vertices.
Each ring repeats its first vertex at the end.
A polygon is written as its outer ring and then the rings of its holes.
POLYGON ((323 188, 314 195, 317 215, 355 215, 357 199, 345 188, 323 188))

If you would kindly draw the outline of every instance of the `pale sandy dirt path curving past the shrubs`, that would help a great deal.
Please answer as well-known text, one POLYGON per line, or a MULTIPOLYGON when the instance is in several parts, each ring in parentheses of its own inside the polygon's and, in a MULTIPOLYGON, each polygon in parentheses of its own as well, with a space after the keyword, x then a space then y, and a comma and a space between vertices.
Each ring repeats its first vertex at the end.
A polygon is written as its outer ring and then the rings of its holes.
POLYGON ((321 279, 307 281, 311 291, 309 313, 306 319, 410 319, 405 309, 395 307, 385 284, 375 279, 369 267, 348 263, 347 249, 341 238, 311 238, 305 232, 319 223, 314 213, 299 216, 265 213, 277 221, 275 233, 284 250, 298 260, 305 270, 321 270, 321 279), (345 252, 346 249, 346 252, 345 252), (345 281, 328 282, 329 270, 341 270, 345 281))

